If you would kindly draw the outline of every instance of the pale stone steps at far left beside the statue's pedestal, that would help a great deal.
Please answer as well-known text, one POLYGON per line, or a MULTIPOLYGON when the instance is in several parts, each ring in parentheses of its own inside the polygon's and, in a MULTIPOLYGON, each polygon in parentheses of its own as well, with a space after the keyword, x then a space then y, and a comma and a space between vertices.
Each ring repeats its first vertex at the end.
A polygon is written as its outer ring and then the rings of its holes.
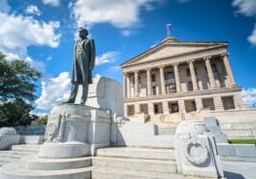
POLYGON ((39 136, 21 136, 21 141, 25 143, 13 145, 7 151, 0 151, 0 167, 8 162, 18 163, 21 157, 37 155, 41 138, 39 136))

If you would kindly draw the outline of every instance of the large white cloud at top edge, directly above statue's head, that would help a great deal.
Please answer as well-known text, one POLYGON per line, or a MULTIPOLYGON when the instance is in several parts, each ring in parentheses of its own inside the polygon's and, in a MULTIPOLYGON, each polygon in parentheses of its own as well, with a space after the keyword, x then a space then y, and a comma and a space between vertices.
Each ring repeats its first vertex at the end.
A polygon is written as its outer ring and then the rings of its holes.
POLYGON ((130 28, 140 21, 140 11, 152 10, 161 0, 77 0, 72 13, 78 26, 110 23, 119 28, 130 28))

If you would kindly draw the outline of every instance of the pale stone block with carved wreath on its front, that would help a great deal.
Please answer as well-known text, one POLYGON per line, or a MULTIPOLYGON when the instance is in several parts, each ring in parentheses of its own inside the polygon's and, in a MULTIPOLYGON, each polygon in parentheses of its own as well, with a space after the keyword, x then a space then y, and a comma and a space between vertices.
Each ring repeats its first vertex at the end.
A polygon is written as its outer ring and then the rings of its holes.
POLYGON ((201 122, 185 121, 175 133, 178 173, 200 177, 223 177, 214 137, 201 122))

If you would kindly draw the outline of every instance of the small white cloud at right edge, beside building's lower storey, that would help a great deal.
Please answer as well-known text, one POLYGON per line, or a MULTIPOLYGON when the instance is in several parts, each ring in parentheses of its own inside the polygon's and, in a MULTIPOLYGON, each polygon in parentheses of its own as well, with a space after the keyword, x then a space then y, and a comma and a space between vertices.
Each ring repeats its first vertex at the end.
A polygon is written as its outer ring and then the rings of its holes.
POLYGON ((243 89, 241 95, 247 107, 256 107, 256 89, 243 89))

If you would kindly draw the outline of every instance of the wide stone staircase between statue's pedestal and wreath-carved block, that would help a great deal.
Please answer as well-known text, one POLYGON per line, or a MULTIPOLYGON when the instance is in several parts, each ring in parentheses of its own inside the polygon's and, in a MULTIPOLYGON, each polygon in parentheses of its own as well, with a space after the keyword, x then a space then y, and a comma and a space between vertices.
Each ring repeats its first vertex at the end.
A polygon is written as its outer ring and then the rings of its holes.
POLYGON ((98 149, 92 179, 187 179, 177 174, 174 149, 116 147, 98 149))

